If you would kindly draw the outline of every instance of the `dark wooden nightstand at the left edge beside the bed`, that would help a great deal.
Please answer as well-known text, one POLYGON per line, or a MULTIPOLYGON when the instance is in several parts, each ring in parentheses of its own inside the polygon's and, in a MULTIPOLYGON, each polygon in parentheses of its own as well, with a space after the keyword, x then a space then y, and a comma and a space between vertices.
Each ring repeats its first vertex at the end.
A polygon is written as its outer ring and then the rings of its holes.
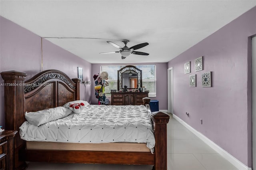
POLYGON ((0 132, 0 170, 14 170, 14 136, 17 131, 0 132))

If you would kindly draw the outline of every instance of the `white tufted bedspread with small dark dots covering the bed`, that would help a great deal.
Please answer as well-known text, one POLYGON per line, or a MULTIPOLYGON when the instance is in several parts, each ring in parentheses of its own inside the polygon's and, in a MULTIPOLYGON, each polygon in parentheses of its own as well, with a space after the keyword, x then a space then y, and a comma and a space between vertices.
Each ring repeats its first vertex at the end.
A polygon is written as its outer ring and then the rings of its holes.
POLYGON ((145 106, 88 105, 80 114, 34 126, 20 127, 20 137, 28 141, 106 143, 146 143, 152 150, 155 138, 145 106))

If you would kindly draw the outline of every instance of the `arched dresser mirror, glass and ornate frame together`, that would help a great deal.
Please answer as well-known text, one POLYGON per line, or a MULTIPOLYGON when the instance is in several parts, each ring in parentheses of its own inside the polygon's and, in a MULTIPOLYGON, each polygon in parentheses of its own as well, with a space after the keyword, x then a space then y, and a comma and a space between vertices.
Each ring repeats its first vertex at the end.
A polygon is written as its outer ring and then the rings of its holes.
POLYGON ((142 70, 133 65, 127 65, 117 71, 117 89, 138 89, 142 87, 142 70))

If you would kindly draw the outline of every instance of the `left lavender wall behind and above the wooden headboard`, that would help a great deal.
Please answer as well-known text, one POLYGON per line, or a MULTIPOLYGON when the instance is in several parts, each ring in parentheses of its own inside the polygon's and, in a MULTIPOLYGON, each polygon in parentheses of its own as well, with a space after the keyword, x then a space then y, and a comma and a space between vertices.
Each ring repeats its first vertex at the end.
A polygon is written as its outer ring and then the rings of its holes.
MULTIPOLYGON (((83 68, 84 79, 91 81, 91 63, 43 40, 43 70, 58 69, 69 77, 77 77, 77 67, 83 68)), ((22 71, 31 78, 41 71, 41 38, 0 16, 0 72, 22 71)), ((3 82, 0 78, 0 85, 3 82)), ((89 99, 90 91, 80 88, 80 98, 89 99)), ((0 125, 4 125, 4 87, 0 86, 0 125)))

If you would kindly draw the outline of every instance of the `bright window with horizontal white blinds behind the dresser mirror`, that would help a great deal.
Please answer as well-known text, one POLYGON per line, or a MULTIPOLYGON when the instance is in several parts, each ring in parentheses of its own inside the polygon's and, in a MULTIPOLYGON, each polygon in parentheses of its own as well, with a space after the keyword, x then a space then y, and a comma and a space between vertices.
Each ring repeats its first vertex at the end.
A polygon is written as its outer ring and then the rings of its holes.
MULTIPOLYGON (((117 89, 117 71, 125 65, 103 65, 100 72, 108 72, 108 86, 105 87, 105 93, 110 95, 111 89, 117 89)), ((149 90, 149 97, 156 97, 156 65, 135 65, 142 70, 142 86, 149 90)))

